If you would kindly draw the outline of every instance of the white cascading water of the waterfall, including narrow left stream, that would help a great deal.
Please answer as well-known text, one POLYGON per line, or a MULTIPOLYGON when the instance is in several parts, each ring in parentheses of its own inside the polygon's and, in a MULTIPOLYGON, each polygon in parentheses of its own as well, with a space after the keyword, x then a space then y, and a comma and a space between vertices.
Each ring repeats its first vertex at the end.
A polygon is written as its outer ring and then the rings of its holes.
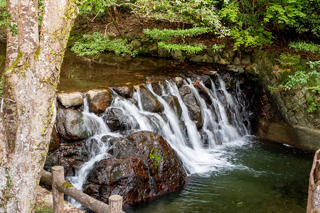
MULTIPOLYGON (((220 78, 218 85, 211 82, 211 89, 202 82, 200 84, 209 94, 212 104, 205 102, 191 80, 184 81, 184 85, 191 89, 201 109, 203 121, 201 129, 197 129, 196 124, 191 120, 178 87, 169 81, 166 81, 164 85, 161 84, 161 97, 154 93, 151 84, 146 85, 154 97, 164 105, 162 114, 144 111, 139 89, 134 92, 133 96, 138 102, 138 107, 117 94, 114 95, 111 107, 122 109, 127 115, 127 123, 131 124, 127 127, 128 131, 154 131, 163 136, 181 158, 188 174, 206 174, 218 168, 233 167, 228 157, 225 157, 228 153, 225 153, 224 147, 241 146, 244 143, 242 136, 248 133, 244 124, 244 121, 247 121, 245 99, 242 97, 239 84, 235 89, 236 97, 225 89, 225 82, 220 78), (182 109, 181 119, 178 119, 175 111, 162 98, 168 95, 178 98, 182 109)), ((109 139, 121 136, 120 133, 111 133, 102 117, 89 112, 86 99, 82 114, 85 126, 92 136, 86 142, 90 160, 80 167, 75 177, 70 178, 70 182, 79 190, 82 190, 82 185, 94 163, 108 157, 107 150, 110 146, 107 142, 109 139)))

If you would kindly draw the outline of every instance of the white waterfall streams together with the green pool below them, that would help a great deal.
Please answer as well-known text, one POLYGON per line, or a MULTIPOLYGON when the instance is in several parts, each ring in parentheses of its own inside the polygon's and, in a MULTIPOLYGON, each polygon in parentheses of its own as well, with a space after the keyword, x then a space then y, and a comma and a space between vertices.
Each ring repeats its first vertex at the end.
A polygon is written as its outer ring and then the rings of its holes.
MULTIPOLYGON (((305 211, 311 154, 262 143, 250 136, 247 102, 238 83, 233 95, 220 77, 209 85, 198 83, 207 99, 192 80, 183 80, 183 85, 190 89, 201 109, 201 129, 197 129, 191 120, 191 112, 174 82, 161 84, 161 94, 156 94, 151 84, 146 85, 164 105, 162 114, 144 110, 139 87, 135 88, 133 96, 137 103, 114 92, 110 108, 119 109, 126 116, 127 131, 146 130, 161 134, 178 153, 188 173, 188 183, 181 192, 138 207, 128 207, 127 212, 305 211), (165 97, 169 96, 178 98, 181 119, 166 102, 165 97)), ((122 136, 119 132, 112 133, 101 116, 90 113, 86 100, 82 114, 92 137, 86 142, 90 160, 80 167, 75 177, 70 178, 79 189, 82 189, 92 165, 108 158, 110 146, 108 140, 102 138, 122 136)))

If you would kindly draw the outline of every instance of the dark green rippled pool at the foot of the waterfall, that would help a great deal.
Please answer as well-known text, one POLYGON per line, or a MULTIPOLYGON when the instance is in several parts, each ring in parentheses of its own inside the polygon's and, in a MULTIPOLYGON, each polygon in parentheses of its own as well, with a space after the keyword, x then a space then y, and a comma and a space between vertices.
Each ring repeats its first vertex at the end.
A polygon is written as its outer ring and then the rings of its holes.
MULTIPOLYGON (((126 212, 306 212, 313 153, 247 137, 220 150, 231 166, 191 175, 181 192, 126 212)), ((227 163, 227 164, 228 164, 227 163)))

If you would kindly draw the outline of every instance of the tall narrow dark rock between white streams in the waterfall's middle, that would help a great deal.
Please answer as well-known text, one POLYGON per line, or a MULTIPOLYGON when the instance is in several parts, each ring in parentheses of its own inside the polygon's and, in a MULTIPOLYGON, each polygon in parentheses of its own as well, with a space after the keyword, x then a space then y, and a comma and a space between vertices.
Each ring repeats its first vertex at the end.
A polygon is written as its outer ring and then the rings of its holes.
POLYGON ((187 86, 183 86, 179 89, 183 103, 186 104, 188 111, 190 112, 191 120, 196 124, 197 128, 202 127, 201 109, 197 102, 196 97, 191 93, 191 89, 187 86))

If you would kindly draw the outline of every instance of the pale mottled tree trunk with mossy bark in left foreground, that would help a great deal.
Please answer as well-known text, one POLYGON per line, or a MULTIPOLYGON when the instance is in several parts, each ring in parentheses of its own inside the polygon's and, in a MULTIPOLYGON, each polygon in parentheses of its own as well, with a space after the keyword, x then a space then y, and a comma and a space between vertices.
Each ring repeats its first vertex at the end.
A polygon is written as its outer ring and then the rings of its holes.
POLYGON ((55 122, 55 89, 78 8, 72 0, 45 0, 40 35, 37 0, 7 0, 7 8, 18 26, 16 35, 8 28, 5 72, 5 94, 14 100, 16 116, 8 116, 12 104, 6 100, 0 113, 0 212, 34 212, 55 122))

